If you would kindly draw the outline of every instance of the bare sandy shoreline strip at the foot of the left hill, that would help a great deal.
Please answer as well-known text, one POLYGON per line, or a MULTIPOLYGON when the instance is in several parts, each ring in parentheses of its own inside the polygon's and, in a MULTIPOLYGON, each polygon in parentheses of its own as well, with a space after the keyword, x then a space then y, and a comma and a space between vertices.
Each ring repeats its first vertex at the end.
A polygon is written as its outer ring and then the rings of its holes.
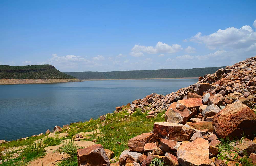
POLYGON ((1 84, 47 84, 59 82, 82 82, 79 79, 0 79, 1 84))

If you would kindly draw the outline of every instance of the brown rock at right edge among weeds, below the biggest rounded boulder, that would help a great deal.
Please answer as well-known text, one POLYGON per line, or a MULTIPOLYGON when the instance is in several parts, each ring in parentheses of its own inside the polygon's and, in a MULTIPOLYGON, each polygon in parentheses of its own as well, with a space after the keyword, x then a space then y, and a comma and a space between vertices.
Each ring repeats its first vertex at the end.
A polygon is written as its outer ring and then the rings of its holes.
POLYGON ((251 153, 256 151, 256 143, 247 138, 241 138, 238 144, 234 146, 234 149, 238 150, 240 155, 249 156, 251 153))

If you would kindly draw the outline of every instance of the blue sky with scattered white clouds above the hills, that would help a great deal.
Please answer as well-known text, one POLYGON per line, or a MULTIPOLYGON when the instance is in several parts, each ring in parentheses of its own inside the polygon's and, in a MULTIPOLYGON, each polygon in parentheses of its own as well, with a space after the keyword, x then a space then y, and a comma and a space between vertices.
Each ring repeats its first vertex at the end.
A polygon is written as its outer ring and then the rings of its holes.
POLYGON ((256 56, 256 1, 0 1, 0 65, 191 69, 256 56))

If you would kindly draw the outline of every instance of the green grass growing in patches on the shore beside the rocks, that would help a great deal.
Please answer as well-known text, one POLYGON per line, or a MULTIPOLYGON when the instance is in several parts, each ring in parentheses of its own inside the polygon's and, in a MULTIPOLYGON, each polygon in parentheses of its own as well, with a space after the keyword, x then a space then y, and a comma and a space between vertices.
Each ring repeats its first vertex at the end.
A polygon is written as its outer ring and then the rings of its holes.
MULTIPOLYGON (((148 112, 148 111, 147 111, 148 112)), ((128 149, 128 140, 142 133, 150 132, 153 129, 154 122, 162 122, 165 121, 164 117, 161 117, 165 111, 159 113, 155 118, 147 119, 147 112, 142 113, 140 109, 137 109, 132 115, 124 118, 125 115, 129 115, 126 110, 120 111, 119 113, 111 113, 106 115, 105 121, 100 121, 100 119, 81 122, 78 124, 70 125, 70 129, 68 131, 64 130, 63 132, 69 133, 69 136, 61 139, 70 139, 76 133, 80 132, 92 132, 92 134, 84 137, 84 140, 92 141, 93 139, 97 139, 98 144, 102 144, 105 149, 109 149, 114 151, 114 157, 116 161, 119 158, 119 155, 126 149, 128 149), (111 129, 110 127, 114 127, 111 129), (95 132, 96 129, 100 131, 100 133, 95 132), (121 144, 116 144, 116 142, 120 142, 121 144)), ((13 146, 22 146, 22 145, 34 145, 34 140, 41 139, 44 136, 40 137, 30 137, 27 140, 23 141, 14 141, 12 143, 2 144, 1 146, 13 147, 13 146)), ((61 139, 49 138, 46 137, 42 141, 45 146, 58 145, 61 139)), ((66 148, 62 148, 62 152, 65 152, 67 149, 72 149, 70 144, 66 145, 66 148), (67 148, 69 147, 69 148, 67 148)), ((30 150, 31 151, 31 150, 30 150)), ((11 154, 10 154, 11 155, 11 154)), ((29 153, 28 151, 25 154, 22 154, 13 160, 9 160, 3 164, 5 165, 25 165, 27 162, 40 157, 41 154, 37 153, 29 153), (25 157, 22 160, 22 157, 25 157)), ((68 165, 77 165, 77 156, 71 155, 67 160, 62 160, 58 165, 60 166, 68 166, 68 165), (70 164, 69 164, 70 163, 70 164)))

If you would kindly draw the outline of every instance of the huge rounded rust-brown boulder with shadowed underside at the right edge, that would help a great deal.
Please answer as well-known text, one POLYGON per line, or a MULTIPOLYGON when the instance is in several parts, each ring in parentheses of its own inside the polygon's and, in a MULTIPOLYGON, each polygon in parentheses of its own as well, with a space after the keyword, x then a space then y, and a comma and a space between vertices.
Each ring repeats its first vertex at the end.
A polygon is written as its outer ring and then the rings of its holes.
POLYGON ((256 133, 256 114, 241 102, 234 102, 213 117, 213 126, 221 138, 241 138, 242 133, 253 138, 256 133))

